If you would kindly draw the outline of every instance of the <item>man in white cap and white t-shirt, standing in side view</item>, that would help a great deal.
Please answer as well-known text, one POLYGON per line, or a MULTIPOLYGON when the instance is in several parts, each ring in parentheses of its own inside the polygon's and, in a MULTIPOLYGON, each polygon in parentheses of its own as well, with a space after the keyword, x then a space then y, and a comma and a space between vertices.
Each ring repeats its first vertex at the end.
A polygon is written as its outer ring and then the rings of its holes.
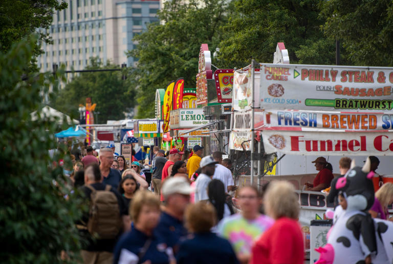
POLYGON ((214 174, 216 161, 209 155, 201 159, 200 167, 202 173, 198 175, 195 180, 195 198, 194 202, 207 201, 209 196, 207 195, 207 187, 211 181, 211 176, 214 174))

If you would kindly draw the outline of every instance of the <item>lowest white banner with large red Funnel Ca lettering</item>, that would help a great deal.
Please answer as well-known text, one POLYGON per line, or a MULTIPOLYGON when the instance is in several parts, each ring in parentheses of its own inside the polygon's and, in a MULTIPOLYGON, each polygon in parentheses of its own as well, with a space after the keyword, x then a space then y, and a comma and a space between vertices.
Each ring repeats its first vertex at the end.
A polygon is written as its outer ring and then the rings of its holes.
POLYGON ((266 153, 291 155, 393 155, 393 134, 376 132, 261 132, 266 153))

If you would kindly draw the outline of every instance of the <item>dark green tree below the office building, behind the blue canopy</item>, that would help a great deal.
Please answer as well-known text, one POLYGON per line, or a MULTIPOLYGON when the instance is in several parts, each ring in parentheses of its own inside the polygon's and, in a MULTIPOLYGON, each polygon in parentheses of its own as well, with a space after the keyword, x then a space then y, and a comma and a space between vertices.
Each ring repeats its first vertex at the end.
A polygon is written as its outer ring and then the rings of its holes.
MULTIPOLYGON (((114 69, 116 65, 103 66, 98 58, 91 58, 90 65, 85 70, 114 69)), ((92 103, 97 104, 99 123, 107 120, 124 118, 124 112, 134 107, 134 92, 128 89, 130 80, 122 80, 122 73, 111 72, 83 72, 74 77, 70 83, 56 95, 51 105, 71 116, 79 116, 79 105, 85 105, 86 98, 91 97, 92 103)), ((78 118, 77 118, 78 119, 78 118)), ((97 120, 95 121, 97 123, 97 120)))

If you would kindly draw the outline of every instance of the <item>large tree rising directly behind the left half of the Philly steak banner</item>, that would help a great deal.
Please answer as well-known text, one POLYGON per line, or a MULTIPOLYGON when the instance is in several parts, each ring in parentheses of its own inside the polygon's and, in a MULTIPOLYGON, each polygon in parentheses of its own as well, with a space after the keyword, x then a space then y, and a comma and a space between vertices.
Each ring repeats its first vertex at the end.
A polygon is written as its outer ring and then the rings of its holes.
POLYGON ((272 63, 277 42, 283 42, 292 64, 333 64, 335 39, 320 30, 319 2, 234 1, 219 59, 232 67, 244 67, 251 59, 272 63))

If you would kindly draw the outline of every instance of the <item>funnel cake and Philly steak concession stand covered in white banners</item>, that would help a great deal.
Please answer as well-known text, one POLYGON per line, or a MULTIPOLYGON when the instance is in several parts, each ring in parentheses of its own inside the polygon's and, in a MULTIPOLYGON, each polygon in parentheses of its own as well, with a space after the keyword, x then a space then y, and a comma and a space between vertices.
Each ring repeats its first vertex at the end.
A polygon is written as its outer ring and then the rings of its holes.
MULTIPOLYGON (((337 174, 342 156, 362 166, 374 155, 381 161, 377 173, 391 174, 393 68, 292 65, 287 55, 279 44, 274 61, 280 64, 252 61, 234 71, 229 149, 239 185, 278 179, 295 186, 310 249, 322 246, 326 235, 310 246, 310 221, 334 208, 323 192, 302 190, 317 174, 312 160, 326 157, 337 174)), ((373 180, 378 187, 391 178, 373 180)))

